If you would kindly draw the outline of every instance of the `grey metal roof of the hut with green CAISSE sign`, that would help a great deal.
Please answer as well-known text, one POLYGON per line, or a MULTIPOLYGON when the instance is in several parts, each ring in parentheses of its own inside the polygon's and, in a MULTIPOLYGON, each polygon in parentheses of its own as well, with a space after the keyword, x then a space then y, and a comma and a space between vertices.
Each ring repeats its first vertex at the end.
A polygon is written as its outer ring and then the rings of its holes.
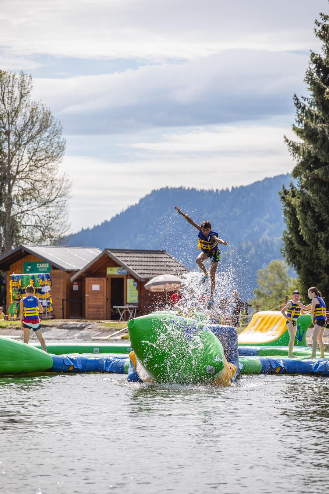
POLYGON ((24 244, 0 257, 0 270, 7 271, 10 264, 19 261, 28 254, 33 254, 62 271, 76 271, 95 259, 101 252, 102 250, 98 247, 35 246, 24 244))

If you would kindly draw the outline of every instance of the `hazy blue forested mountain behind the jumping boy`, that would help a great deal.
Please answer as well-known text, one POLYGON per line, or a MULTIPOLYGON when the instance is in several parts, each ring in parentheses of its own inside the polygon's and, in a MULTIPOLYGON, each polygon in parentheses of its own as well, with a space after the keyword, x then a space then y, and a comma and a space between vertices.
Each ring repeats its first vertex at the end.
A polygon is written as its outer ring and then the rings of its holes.
POLYGON ((230 191, 154 190, 109 221, 74 234, 69 245, 166 249, 194 269, 197 231, 176 212, 177 205, 199 224, 208 219, 219 237, 228 241, 227 247, 221 247, 220 269, 226 269, 226 276, 230 269, 231 283, 244 297, 251 296, 257 269, 281 258, 284 223, 278 191, 290 181, 287 174, 230 191))

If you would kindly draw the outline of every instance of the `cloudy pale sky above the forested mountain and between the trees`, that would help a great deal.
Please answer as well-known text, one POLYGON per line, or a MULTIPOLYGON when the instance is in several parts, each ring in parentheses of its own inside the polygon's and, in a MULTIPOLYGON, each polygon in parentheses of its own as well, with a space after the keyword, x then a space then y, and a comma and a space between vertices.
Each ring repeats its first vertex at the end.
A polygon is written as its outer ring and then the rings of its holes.
POLYGON ((328 0, 1 0, 0 68, 61 121, 72 231, 152 189, 287 173, 328 0))

